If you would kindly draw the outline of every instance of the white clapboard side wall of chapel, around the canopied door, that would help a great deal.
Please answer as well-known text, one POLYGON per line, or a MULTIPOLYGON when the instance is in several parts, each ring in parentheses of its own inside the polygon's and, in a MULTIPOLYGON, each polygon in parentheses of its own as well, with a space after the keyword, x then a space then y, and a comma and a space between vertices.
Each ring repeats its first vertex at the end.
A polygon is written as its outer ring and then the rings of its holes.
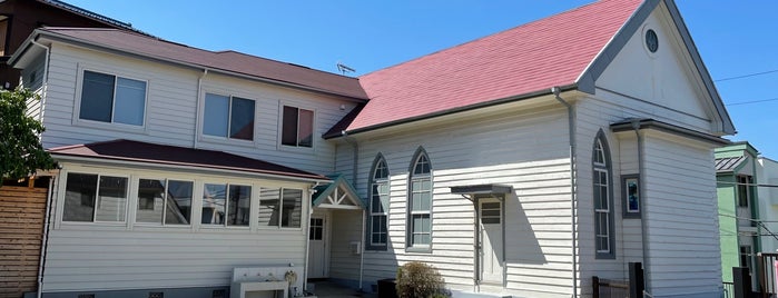
MULTIPOLYGON (((360 143, 356 188, 366 198, 377 153, 390 170, 388 251, 365 251, 365 286, 392 278, 407 261, 435 266, 456 290, 473 290, 473 202, 450 187, 501 183, 505 198, 506 291, 526 297, 569 297, 572 285, 570 159, 567 110, 543 107, 454 115, 371 136, 360 143), (383 135, 386 133, 386 135, 383 135), (543 138, 538 138, 543 136, 543 138), (407 252, 406 202, 412 158, 423 147, 432 165, 432 252, 407 252)), ((521 105, 519 105, 521 106, 521 105)), ((370 133, 366 133, 370 135, 370 133)), ((351 172, 352 147, 341 145, 337 165, 351 172)))

